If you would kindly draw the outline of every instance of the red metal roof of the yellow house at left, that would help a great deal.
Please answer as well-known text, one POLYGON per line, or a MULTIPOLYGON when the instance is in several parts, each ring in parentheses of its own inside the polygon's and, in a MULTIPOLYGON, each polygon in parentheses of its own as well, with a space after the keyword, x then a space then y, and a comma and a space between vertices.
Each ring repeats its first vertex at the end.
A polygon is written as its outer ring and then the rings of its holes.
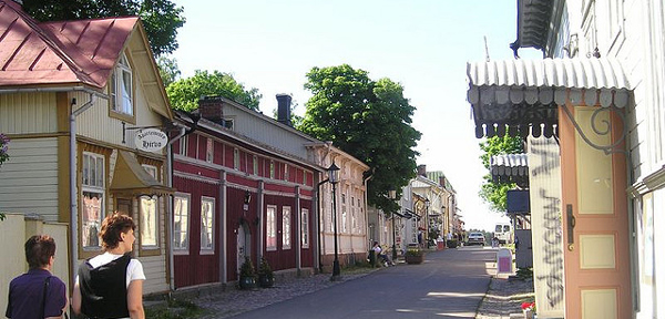
POLYGON ((139 18, 37 22, 0 0, 0 86, 42 84, 102 89, 139 18))

